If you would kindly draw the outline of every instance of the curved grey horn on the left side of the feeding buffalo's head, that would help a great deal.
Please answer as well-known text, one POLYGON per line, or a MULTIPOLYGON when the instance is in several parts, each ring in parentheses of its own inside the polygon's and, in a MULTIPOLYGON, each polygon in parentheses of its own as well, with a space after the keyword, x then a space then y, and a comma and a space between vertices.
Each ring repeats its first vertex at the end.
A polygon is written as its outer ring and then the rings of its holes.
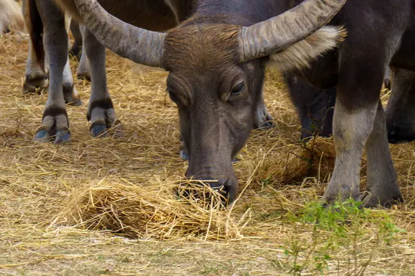
POLYGON ((136 63, 160 67, 163 32, 125 23, 109 14, 96 0, 75 0, 75 3, 82 20, 102 45, 136 63))

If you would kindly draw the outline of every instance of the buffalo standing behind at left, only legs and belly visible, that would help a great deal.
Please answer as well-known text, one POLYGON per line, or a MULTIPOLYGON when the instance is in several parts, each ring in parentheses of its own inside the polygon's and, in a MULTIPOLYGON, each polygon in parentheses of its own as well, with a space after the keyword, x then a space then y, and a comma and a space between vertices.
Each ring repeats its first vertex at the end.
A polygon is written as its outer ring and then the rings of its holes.
MULTIPOLYGON (((189 17, 194 8, 194 2, 190 0, 154 0, 151 3, 147 0, 126 0, 122 3, 114 1, 101 1, 101 3, 104 8, 111 11, 111 14, 123 21, 154 31, 173 28, 179 21, 189 17), (114 3, 120 3, 120 5, 114 6, 114 3)), ((64 5, 65 12, 75 19, 80 19, 73 1, 24 0, 23 10, 32 41, 24 88, 33 91, 48 86, 48 75, 44 69, 44 62, 48 60, 44 57, 44 48, 46 48, 48 58, 53 62, 50 63, 49 97, 46 102, 42 126, 37 132, 36 139, 48 141, 52 138, 55 139, 55 143, 59 143, 70 139, 65 103, 80 104, 80 99, 73 86, 71 71, 66 59, 67 54, 63 54, 63 50, 67 48, 64 12, 56 4, 64 5), (66 2, 70 3, 69 7, 65 6, 66 2), (62 61, 64 58, 66 59, 65 65, 62 61), (61 66, 64 68, 62 69, 61 66)), ((76 28, 76 26, 73 27, 76 28)), ((82 30, 82 27, 80 29, 82 30)), ((92 91, 87 118, 91 121, 92 135, 98 136, 117 125, 119 121, 107 90, 104 46, 95 39, 95 36, 87 28, 83 28, 82 32, 83 50, 86 55, 81 57, 78 76, 89 79, 89 72, 91 72, 92 91), (91 63, 91 68, 87 67, 89 64, 86 57, 91 63)), ((141 55, 145 55, 149 50, 152 49, 137 49, 141 55)), ((272 121, 272 117, 268 114, 264 101, 261 100, 257 104, 253 126, 270 126, 269 121, 272 121)))

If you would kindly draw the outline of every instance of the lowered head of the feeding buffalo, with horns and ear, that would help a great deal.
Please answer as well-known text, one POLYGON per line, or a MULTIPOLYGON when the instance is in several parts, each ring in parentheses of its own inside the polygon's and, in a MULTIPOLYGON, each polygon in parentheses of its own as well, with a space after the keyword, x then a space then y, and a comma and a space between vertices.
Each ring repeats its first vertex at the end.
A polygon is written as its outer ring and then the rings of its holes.
POLYGON ((337 46, 344 30, 319 28, 345 1, 306 0, 249 27, 223 23, 223 17, 198 17, 196 12, 180 26, 160 33, 112 17, 95 0, 75 0, 86 26, 104 46, 132 61, 169 71, 167 91, 178 106, 190 155, 186 176, 222 186, 229 201, 238 191, 232 157, 252 128, 264 61, 281 68, 307 66, 337 46))

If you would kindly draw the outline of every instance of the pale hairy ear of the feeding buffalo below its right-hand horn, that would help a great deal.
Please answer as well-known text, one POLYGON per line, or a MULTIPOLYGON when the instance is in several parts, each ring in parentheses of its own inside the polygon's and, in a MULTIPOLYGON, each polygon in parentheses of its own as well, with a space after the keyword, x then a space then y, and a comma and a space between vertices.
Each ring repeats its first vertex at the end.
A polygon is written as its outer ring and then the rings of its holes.
POLYGON ((343 27, 325 26, 306 39, 270 55, 268 65, 282 71, 310 67, 311 61, 344 41, 347 31, 343 27))

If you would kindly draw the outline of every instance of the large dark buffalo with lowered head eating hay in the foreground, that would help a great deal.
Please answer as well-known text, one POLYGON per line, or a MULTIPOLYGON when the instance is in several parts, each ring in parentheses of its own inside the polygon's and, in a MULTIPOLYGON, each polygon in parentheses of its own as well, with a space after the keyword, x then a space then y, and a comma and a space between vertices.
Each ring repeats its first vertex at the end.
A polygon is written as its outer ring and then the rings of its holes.
MULTIPOLYGON (((312 34, 343 4, 199 0, 194 15, 165 34, 119 21, 96 1, 75 2, 86 26, 105 46, 133 61, 169 71, 167 89, 177 103, 190 154, 187 176, 217 179, 212 186, 223 186, 230 200, 238 190, 231 161, 248 138, 264 63, 284 59, 282 68, 294 61, 306 65, 304 57, 314 57, 319 50, 314 45, 322 42, 319 32, 302 46, 288 46, 312 34), (147 51, 140 51, 143 48, 147 51)), ((66 8, 75 13, 74 7, 66 8)), ((387 206, 402 199, 380 90, 389 64, 414 70, 414 12, 412 0, 348 0, 331 19, 333 26, 347 28, 346 41, 308 68, 291 72, 317 88, 336 88, 333 138, 337 156, 323 198, 328 204, 351 197, 362 199, 366 206, 387 206), (360 197, 364 148, 367 193, 360 197)))

